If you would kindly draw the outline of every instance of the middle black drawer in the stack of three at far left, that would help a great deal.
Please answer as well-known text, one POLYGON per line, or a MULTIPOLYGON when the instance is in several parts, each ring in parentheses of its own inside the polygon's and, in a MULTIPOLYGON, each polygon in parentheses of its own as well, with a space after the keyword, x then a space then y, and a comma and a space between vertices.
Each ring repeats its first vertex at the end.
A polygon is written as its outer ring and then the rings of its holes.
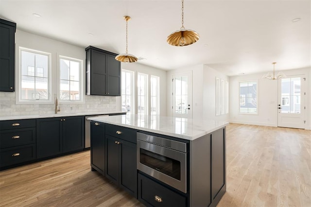
POLYGON ((33 143, 35 143, 35 127, 0 132, 0 149, 33 143))

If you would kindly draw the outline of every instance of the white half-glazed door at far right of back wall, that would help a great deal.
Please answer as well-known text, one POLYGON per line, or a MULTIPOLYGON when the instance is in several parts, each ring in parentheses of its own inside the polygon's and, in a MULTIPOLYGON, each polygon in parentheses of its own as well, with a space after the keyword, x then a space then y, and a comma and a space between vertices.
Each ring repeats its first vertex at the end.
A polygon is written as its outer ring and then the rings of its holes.
POLYGON ((278 80, 277 126, 305 128, 305 80, 301 75, 278 80))

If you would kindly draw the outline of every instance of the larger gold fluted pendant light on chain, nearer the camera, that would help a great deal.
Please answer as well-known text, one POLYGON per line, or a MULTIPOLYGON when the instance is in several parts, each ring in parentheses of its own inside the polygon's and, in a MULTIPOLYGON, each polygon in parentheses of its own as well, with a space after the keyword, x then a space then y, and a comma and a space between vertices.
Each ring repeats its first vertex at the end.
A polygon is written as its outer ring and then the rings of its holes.
POLYGON ((187 46, 199 40, 200 36, 193 30, 185 29, 184 27, 184 0, 181 0, 181 28, 173 32, 166 39, 167 43, 173 46, 187 46))

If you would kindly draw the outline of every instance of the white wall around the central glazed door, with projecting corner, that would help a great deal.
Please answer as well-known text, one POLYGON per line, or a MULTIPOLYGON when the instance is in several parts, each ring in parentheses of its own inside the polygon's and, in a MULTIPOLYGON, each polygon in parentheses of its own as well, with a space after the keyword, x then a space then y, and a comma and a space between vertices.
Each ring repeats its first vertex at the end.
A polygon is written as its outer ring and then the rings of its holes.
MULTIPOLYGON (((172 77, 182 72, 192 72, 192 119, 228 121, 229 115, 216 117, 215 80, 219 77, 228 81, 228 77, 206 65, 195 65, 167 71, 167 116, 172 116, 172 77)), ((190 109, 190 110, 191 110, 190 109)))

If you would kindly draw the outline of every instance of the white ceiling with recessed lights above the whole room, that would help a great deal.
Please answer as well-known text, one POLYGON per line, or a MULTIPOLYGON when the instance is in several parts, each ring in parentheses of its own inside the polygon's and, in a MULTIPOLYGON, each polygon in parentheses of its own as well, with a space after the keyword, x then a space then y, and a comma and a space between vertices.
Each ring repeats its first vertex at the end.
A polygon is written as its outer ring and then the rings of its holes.
POLYGON ((184 6, 185 28, 200 35, 185 47, 166 43, 181 27, 181 0, 0 0, 0 17, 19 30, 124 53, 128 15, 128 52, 165 70, 207 64, 232 76, 272 71, 272 62, 276 70, 311 67, 310 0, 185 0, 184 6))

